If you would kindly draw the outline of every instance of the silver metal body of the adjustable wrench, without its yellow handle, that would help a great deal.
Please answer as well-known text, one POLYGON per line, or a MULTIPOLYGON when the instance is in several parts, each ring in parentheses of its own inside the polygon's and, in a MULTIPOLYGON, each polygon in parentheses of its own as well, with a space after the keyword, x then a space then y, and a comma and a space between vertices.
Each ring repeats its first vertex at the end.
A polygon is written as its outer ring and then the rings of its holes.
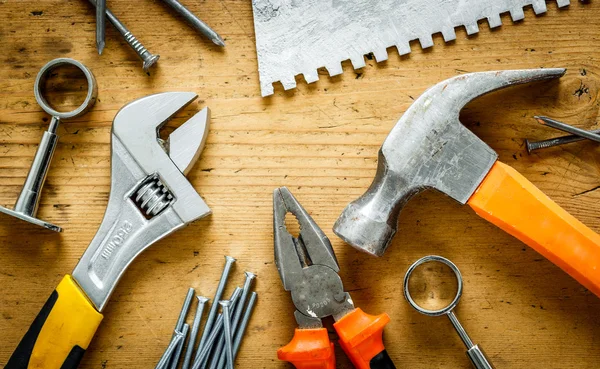
POLYGON ((73 278, 99 311, 142 251, 210 214, 158 137, 165 122, 196 97, 191 92, 146 96, 123 107, 113 121, 108 206, 98 232, 73 271, 73 278), (174 200, 160 213, 148 216, 132 196, 152 177, 160 179, 174 200))

